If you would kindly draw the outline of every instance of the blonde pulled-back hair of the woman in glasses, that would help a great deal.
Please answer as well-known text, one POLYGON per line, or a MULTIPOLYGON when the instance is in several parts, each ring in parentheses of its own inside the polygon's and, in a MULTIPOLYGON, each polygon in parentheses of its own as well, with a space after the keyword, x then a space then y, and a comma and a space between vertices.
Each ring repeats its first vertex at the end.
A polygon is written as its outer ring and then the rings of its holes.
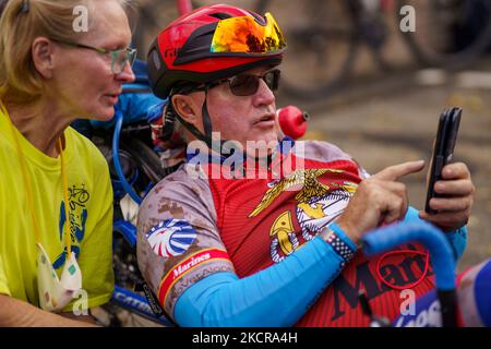
MULTIPOLYGON (((0 0, 5 1, 5 0, 0 0)), ((73 28, 74 8, 84 5, 93 13, 94 0, 7 0, 0 13, 0 99, 13 104, 40 97, 44 80, 32 57, 36 37, 77 41, 85 35, 73 28)), ((125 9, 128 0, 118 0, 125 9)), ((92 26, 88 15, 88 28, 92 26)))

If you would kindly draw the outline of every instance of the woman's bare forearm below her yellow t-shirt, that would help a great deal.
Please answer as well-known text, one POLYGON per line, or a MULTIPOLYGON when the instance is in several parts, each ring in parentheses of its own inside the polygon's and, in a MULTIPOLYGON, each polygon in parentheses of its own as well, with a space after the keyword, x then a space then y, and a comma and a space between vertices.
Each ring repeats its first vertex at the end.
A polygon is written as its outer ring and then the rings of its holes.
MULTIPOLYGON (((86 320, 84 317, 84 320, 86 320)), ((75 321, 40 310, 7 294, 0 294, 0 327, 92 327, 86 321, 75 321)))

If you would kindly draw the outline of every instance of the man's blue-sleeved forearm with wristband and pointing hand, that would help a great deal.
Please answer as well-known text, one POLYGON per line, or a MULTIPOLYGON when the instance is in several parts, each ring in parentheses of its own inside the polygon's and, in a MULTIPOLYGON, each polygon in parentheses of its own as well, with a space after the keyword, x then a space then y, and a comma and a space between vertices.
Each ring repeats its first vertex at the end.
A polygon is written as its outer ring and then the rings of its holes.
POLYGON ((339 274, 361 237, 381 221, 395 222, 407 212, 407 192, 395 182, 418 171, 422 161, 394 166, 363 181, 338 224, 306 243, 285 261, 250 277, 216 275, 189 287, 176 303, 183 326, 291 326, 339 274), (344 227, 348 229, 344 230, 344 227), (336 255, 337 253, 337 255, 336 255), (336 261, 336 257, 339 260, 336 261))

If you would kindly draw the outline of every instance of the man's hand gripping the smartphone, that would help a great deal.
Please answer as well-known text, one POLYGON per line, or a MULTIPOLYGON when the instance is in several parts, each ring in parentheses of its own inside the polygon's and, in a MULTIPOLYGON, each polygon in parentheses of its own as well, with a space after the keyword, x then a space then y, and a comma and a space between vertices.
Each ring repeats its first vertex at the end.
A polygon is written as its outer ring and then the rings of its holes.
POLYGON ((434 224, 444 231, 456 230, 467 224, 476 191, 470 171, 463 163, 446 165, 442 170, 443 180, 434 183, 434 191, 446 197, 433 197, 430 207, 438 213, 430 215, 419 212, 421 219, 434 224))

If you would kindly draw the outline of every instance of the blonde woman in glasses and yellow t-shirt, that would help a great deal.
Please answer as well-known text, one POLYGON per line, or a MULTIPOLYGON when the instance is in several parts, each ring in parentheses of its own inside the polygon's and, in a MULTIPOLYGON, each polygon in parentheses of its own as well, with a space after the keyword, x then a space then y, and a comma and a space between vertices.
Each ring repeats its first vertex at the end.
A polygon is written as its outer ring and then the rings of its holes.
POLYGON ((112 192, 69 125, 109 120, 135 52, 121 0, 9 0, 0 17, 0 326, 81 326, 107 302, 112 192))

